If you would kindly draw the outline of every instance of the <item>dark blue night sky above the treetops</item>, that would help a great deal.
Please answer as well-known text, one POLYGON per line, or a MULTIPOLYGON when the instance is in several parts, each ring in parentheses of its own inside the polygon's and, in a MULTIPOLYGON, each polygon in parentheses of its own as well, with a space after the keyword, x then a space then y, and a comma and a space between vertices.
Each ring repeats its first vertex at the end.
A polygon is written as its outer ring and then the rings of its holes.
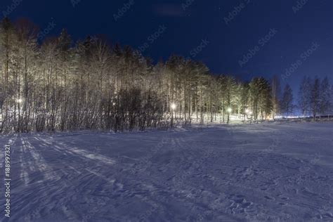
POLYGON ((276 74, 294 91, 303 75, 332 81, 332 0, 1 0, 0 12, 28 18, 51 35, 66 28, 74 41, 102 34, 112 44, 141 47, 155 63, 183 55, 214 74, 276 74))

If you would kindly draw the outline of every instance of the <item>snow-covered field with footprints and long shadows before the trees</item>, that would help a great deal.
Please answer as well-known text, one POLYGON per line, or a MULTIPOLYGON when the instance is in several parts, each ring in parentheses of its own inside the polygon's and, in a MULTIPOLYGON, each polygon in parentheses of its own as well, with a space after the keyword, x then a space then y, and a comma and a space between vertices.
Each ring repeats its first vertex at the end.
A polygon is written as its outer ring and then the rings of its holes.
POLYGON ((1 136, 7 143, 9 221, 333 221, 332 122, 1 136))

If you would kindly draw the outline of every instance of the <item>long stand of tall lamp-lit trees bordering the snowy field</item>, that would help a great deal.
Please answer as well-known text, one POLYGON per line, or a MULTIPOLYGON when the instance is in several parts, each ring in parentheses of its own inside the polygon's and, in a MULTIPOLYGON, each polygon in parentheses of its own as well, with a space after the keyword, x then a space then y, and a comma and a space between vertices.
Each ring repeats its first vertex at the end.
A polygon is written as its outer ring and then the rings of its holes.
MULTIPOLYGON (((143 130, 284 112, 277 77, 243 82, 176 55, 152 65, 129 46, 91 37, 73 44, 65 30, 39 42, 37 34, 27 20, 1 22, 1 132, 143 130)), ((327 110, 315 106, 314 115, 327 110)))

